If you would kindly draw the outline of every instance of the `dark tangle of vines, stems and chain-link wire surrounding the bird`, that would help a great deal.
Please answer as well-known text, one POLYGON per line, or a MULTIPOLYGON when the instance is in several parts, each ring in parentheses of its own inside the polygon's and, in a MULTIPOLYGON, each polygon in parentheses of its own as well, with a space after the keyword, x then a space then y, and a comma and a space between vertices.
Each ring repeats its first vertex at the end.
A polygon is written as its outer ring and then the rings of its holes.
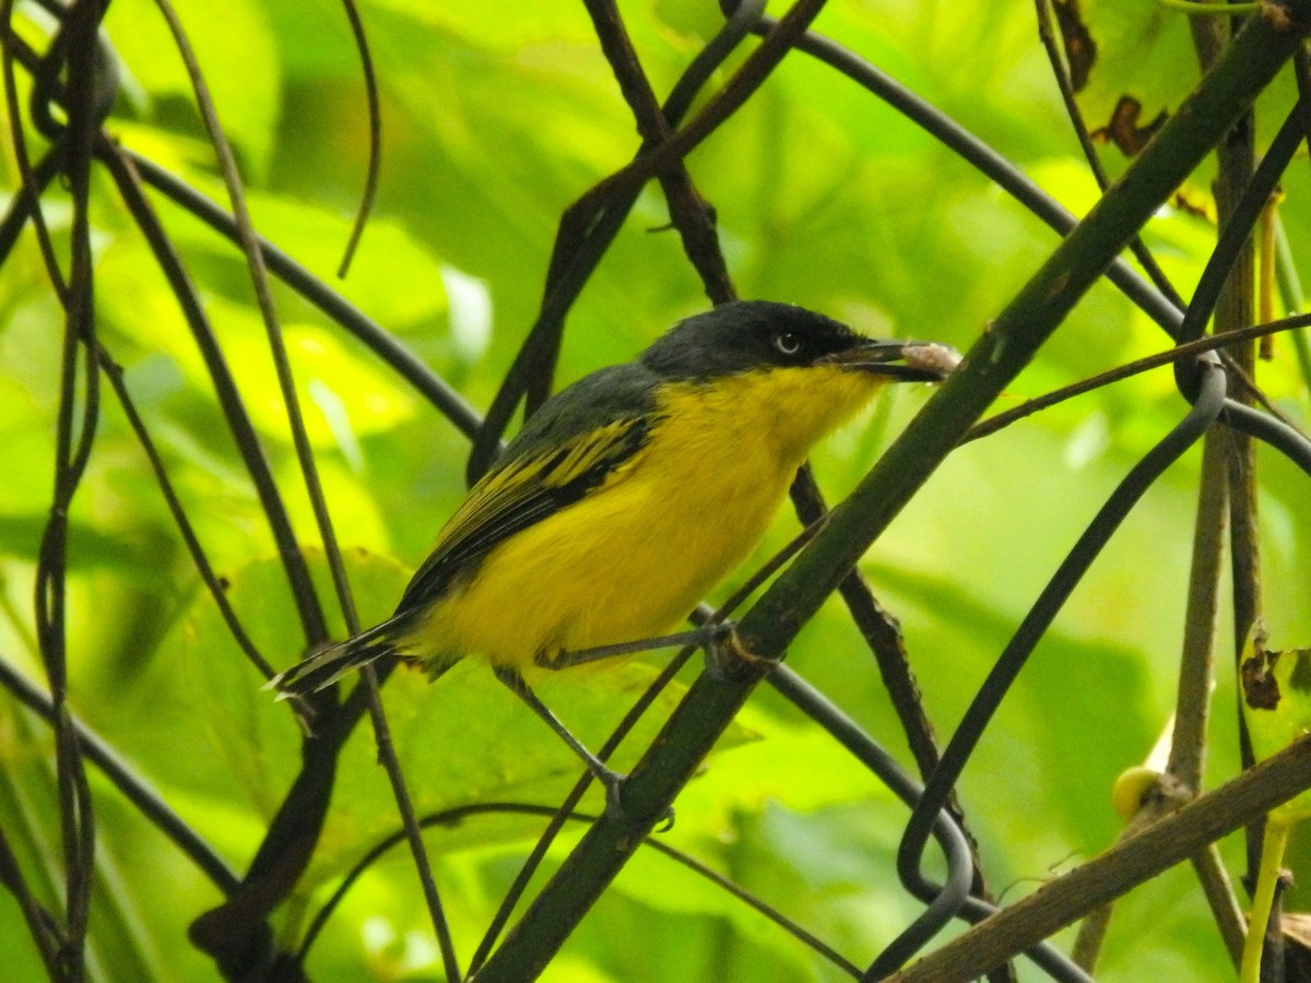
MULTIPOLYGON (((1307 31, 1311 30, 1311 0, 1265 4, 1242 18, 1198 17, 1194 33, 1200 38, 1200 50, 1205 47, 1211 52, 1200 84, 1113 183, 1097 166, 1088 127, 1074 98, 1079 52, 1072 45, 1078 33, 1070 25, 1071 18, 1078 17, 1078 5, 1072 0, 1037 0, 1036 35, 1047 48, 1074 131, 1088 149, 1089 166, 1103 185, 1100 199, 1083 219, 1068 214, 1002 155, 857 52, 813 31, 810 25, 825 7, 823 0, 797 0, 781 17, 767 16, 763 0, 722 4, 728 8, 722 28, 688 59, 682 77, 663 101, 648 79, 617 4, 614 0, 583 0, 597 43, 632 111, 640 143, 625 166, 589 189, 562 214, 536 320, 485 417, 471 409, 452 385, 434 375, 384 328, 308 273, 294 256, 261 237, 246 206, 235 155, 214 110, 203 66, 168 0, 156 0, 156 5, 186 64, 195 105, 223 176, 227 201, 211 201, 146 153, 134 149, 130 140, 119 140, 106 130, 123 75, 118 55, 101 30, 108 5, 108 0, 72 0, 67 4, 42 0, 43 18, 28 21, 28 26, 46 25, 38 42, 34 30, 16 28, 20 13, 14 10, 13 0, 0 0, 9 149, 21 178, 20 185, 12 189, 8 210, 0 220, 0 263, 13 258, 20 236, 30 232, 39 248, 50 291, 63 312, 59 374, 52 380, 59 408, 52 453, 54 492, 35 558, 33 607, 34 636, 45 680, 41 684, 31 682, 14 662, 0 654, 0 684, 14 700, 39 716, 54 737, 62 900, 51 904, 42 898, 34 886, 34 872, 24 862, 21 851, 4 826, 0 826, 0 881, 17 900, 52 979, 76 980, 88 975, 85 950, 92 898, 97 890, 104 890, 94 876, 98 840, 97 794, 93 794, 89 775, 93 769, 222 893, 224 900, 220 904, 197 912, 189 938, 191 945, 212 958, 228 979, 305 978, 305 955, 321 937, 342 898, 380 856, 402 843, 412 852, 440 959, 447 978, 452 980, 476 976, 484 983, 513 983, 535 978, 635 851, 644 845, 675 856, 679 862, 733 893, 742 904, 763 912, 780 931, 796 936, 827 959, 836 973, 861 980, 952 980, 985 974, 998 980, 1015 979, 1012 961, 1020 958, 1032 961, 1053 979, 1088 979, 1097 955, 1099 925, 1104 928, 1108 906, 1134 886, 1185 860, 1194 866, 1211 902, 1218 931, 1238 959, 1247 931, 1239 914, 1243 906, 1235 898, 1213 844, 1230 832, 1245 828, 1255 866, 1260 853, 1261 817, 1311 788, 1311 744, 1295 742, 1261 763, 1256 763, 1248 752, 1248 768, 1240 776, 1201 793, 1201 747, 1211 683, 1207 640, 1192 640, 1185 645, 1193 651, 1185 651, 1183 662, 1173 752, 1156 786, 1172 789, 1173 797, 1162 792, 1145 805, 1143 822, 1131 826, 1101 856, 1054 877, 1021 902, 998 907, 954 789, 998 706, 1089 566, 1162 473, 1198 443, 1203 444, 1206 459, 1219 464, 1218 468, 1203 467, 1203 474, 1209 476, 1207 480, 1218 476, 1222 489, 1210 499, 1203 495, 1203 507, 1227 510, 1230 516, 1235 655, 1248 645, 1260 616, 1260 583, 1253 560, 1257 549, 1253 520, 1256 485, 1252 478, 1255 446, 1269 446, 1311 476, 1311 439, 1274 412, 1255 385, 1253 345, 1257 336, 1298 329, 1306 318, 1290 317, 1278 322, 1257 318, 1251 305, 1249 282, 1244 287, 1244 280, 1231 274, 1251 265, 1252 232, 1298 148, 1311 135, 1311 62, 1304 48, 1307 31), (1209 39, 1210 45, 1203 45, 1203 39, 1209 39), (708 90, 729 59, 741 56, 743 50, 747 54, 739 58, 737 67, 717 88, 708 90), (229 602, 223 578, 194 530, 191 510, 195 505, 189 503, 170 480, 152 438, 149 421, 138 410, 134 393, 115 362, 115 353, 97 334, 97 267, 90 223, 93 198, 108 194, 105 189, 113 187, 115 207, 131 216, 173 292, 218 395, 223 423, 240 451, 250 486, 273 533, 305 644, 313 646, 329 638, 324 607, 328 600, 311 577, 302 547, 307 540, 305 531, 298 530, 292 522, 292 510, 286 502, 287 490, 274 480, 252 410, 237 392, 232 355, 224 350, 202 292, 187 273, 184 249, 169 236, 159 211, 189 212, 229 240, 233 256, 244 260, 277 367, 304 492, 312 503, 315 533, 324 544, 332 570, 332 603, 340 606, 347 629, 357 632, 359 619, 307 436, 294 358, 288 353, 274 299, 274 280, 317 307, 444 414, 472 443, 467 477, 475 480, 488 468, 517 410, 523 406, 531 413, 549 395, 566 316, 631 218, 638 195, 652 182, 658 185, 667 202, 687 262, 700 278, 707 298, 713 303, 735 298, 730 266, 716 231, 713 204, 697 190, 684 160, 696 147, 716 138, 739 107, 768 83, 784 59, 822 63, 829 71, 860 87, 869 98, 880 100, 903 114, 985 173, 1021 208, 1046 223, 1059 237, 1055 248, 996 315, 988 330, 982 333, 962 368, 915 417, 848 499, 829 511, 809 472, 798 474, 793 501, 810 533, 760 571, 742 591, 742 598, 750 596, 750 587, 763 583, 766 577, 777 575, 750 607, 734 615, 738 617, 738 633, 759 659, 733 678, 724 678, 722 674, 696 678, 663 723, 659 739, 633 769, 621 813, 607 810, 600 815, 589 815, 579 811, 589 785, 585 776, 564 802, 551 807, 503 802, 480 803, 459 814, 417 814, 405 775, 392 751, 379 699, 379 685, 393 668, 384 665, 376 672, 368 670, 341 699, 336 691, 328 691, 303 703, 284 705, 286 712, 296 714, 303 726, 300 767, 264 831, 258 849, 244 872, 233 870, 178 815, 176 803, 156 793, 111 744, 79 720, 69 700, 67 578, 73 532, 68 514, 97 450, 106 384, 130 422, 177 533, 227 630, 260 674, 267 679, 275 672, 275 666, 252 641, 229 602), (1299 94, 1294 105, 1283 107, 1285 121, 1257 163, 1251 107, 1257 96, 1285 72, 1295 76, 1299 94), (20 100, 24 88, 30 93, 26 105, 20 100), (34 145, 43 147, 39 155, 31 151, 34 145), (1218 181, 1226 191, 1218 194, 1219 236, 1193 296, 1184 300, 1139 241, 1138 233, 1213 152, 1219 155, 1218 181), (108 176, 109 181, 93 181, 97 172, 108 176), (49 212, 55 201, 60 207, 71 203, 72 218, 66 236, 51 231, 49 212), (1121 258, 1126 250, 1133 261, 1121 258), (1172 342, 1172 350, 1160 363, 1173 364, 1177 388, 1186 405, 1177 425, 1160 435, 1122 477, 1059 562, 998 655, 950 739, 940 748, 911 676, 897 625, 885 615, 860 574, 853 573, 853 566, 953 448, 983 438, 1016 417, 1068 395, 1037 400, 978 423, 1075 304, 1103 278, 1158 324, 1172 342), (1213 320, 1214 332, 1207 334, 1213 320), (1205 505, 1207 501, 1209 506, 1205 505), (840 594, 878 662, 918 776, 907 772, 825 693, 784 665, 784 655, 800 626, 834 591, 840 594), (766 906, 705 865, 678 855, 658 839, 649 839, 679 790, 760 683, 776 689, 812 718, 910 810, 901 839, 897 876, 902 889, 920 903, 922 910, 868 965, 857 965, 842 955, 834 945, 796 924, 787 912, 766 906), (271 916, 291 896, 311 862, 330 809, 338 759, 347 738, 366 716, 378 738, 379 760, 392 784, 399 828, 359 858, 309 919, 300 937, 290 944, 275 933, 271 916), (479 810, 519 811, 547 817, 549 822, 486 927, 477 952, 471 959, 461 961, 452 942, 440 885, 429 862, 422 831, 454 823, 479 810), (515 916, 549 844, 568 823, 585 823, 586 832, 558 870, 535 890, 515 916), (941 882, 924 870, 929 840, 945 861, 941 882), (935 945, 943 929, 956 920, 964 920, 971 928, 957 933, 949 944, 935 945), (1049 941, 1055 932, 1080 920, 1083 931, 1072 955, 1062 953, 1049 941)), ((376 125, 378 97, 368 35, 354 7, 347 3, 345 10, 371 96, 376 163, 384 144, 376 125)), ((366 201, 372 194, 376 169, 371 174, 366 201)), ((109 202, 98 204, 108 207, 109 202)), ((357 232, 363 227, 366 211, 362 210, 357 232)), ((1298 307, 1301 300, 1290 304, 1290 308, 1298 307)), ((1126 367, 1125 372, 1146 364, 1126 367)), ((1210 516, 1213 524, 1223 527, 1223 520, 1217 516, 1210 516)), ((1221 548, 1219 543, 1213 544, 1213 552, 1194 557, 1194 564, 1214 566, 1221 548)), ((1197 578, 1205 581, 1205 575, 1194 570, 1197 578)), ((1219 603, 1214 591, 1194 592, 1189 596, 1189 623, 1214 624, 1219 603)), ((652 689, 602 748, 603 756, 612 752, 690 655, 691 651, 680 653, 656 679, 652 689)), ((1252 874, 1251 870, 1248 873, 1252 874)), ((1277 953, 1282 945, 1280 933, 1269 936, 1270 953, 1277 953)), ((1266 958, 1274 957, 1268 953, 1266 958)))

